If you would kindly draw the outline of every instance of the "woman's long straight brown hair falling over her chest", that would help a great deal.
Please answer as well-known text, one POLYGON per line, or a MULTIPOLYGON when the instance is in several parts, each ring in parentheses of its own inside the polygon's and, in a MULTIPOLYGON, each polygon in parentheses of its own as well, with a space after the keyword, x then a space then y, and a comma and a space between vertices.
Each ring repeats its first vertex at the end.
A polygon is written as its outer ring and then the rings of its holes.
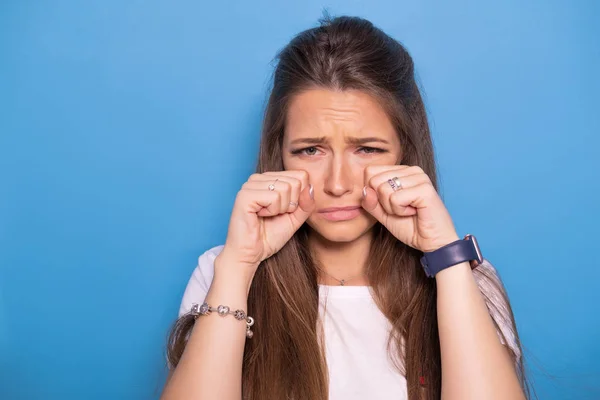
MULTIPOLYGON (((282 139, 290 99, 310 88, 357 89, 378 99, 402 143, 402 164, 418 165, 437 189, 433 145, 425 107, 406 49, 356 17, 325 16, 320 25, 298 34, 277 55, 273 88, 266 107, 257 172, 283 169, 282 139)), ((309 227, 302 228, 275 255, 264 260, 252 281, 248 314, 256 321, 254 338, 244 349, 244 399, 328 398, 328 373, 318 328, 317 267, 308 247, 309 227)), ((391 322, 388 345, 395 344, 398 368, 406 376, 408 397, 439 399, 441 356, 435 280, 420 266, 421 252, 406 246, 380 224, 373 228, 366 267, 375 302, 391 322), (422 381, 424 380, 424 385, 422 381)), ((486 297, 491 312, 503 313, 518 353, 521 344, 510 303, 495 270, 475 270, 479 282, 500 293, 486 297)), ((496 321, 497 322, 497 321, 496 321)), ((168 341, 171 366, 177 365, 193 326, 182 316, 168 341)), ((506 331, 501 331, 505 336, 506 331)), ((392 347, 388 347, 392 348, 392 347)), ((529 394, 522 358, 512 352, 521 384, 529 394)), ((529 397, 529 395, 528 395, 529 397)))

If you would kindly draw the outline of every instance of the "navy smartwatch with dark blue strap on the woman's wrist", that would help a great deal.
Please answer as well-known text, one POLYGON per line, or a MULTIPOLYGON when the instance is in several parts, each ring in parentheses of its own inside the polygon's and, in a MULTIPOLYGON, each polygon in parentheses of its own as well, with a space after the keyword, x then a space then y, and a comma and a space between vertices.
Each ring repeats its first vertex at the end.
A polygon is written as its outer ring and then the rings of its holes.
POLYGON ((464 261, 469 261, 471 269, 477 268, 483 262, 477 239, 470 234, 437 250, 424 252, 421 257, 421 265, 429 278, 464 261))

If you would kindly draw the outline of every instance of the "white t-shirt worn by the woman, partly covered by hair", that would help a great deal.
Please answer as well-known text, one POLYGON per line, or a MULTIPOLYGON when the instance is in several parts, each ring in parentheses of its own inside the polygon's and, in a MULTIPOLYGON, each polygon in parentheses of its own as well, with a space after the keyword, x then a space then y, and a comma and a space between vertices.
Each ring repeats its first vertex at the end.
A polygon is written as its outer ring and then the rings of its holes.
MULTIPOLYGON (((189 312, 193 303, 204 301, 213 279, 214 260, 222 249, 222 245, 213 247, 198 258, 179 316, 189 312)), ((368 286, 319 285, 330 400, 408 398, 406 379, 390 358, 397 351, 395 347, 387 350, 391 324, 369 290, 368 286)))

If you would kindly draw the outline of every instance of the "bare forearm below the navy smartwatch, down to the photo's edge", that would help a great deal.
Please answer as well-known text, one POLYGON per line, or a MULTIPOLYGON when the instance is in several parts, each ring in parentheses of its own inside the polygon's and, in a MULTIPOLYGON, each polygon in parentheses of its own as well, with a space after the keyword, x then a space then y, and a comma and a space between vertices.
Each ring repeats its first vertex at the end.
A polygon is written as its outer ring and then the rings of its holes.
POLYGON ((468 262, 436 275, 442 399, 524 399, 468 262))

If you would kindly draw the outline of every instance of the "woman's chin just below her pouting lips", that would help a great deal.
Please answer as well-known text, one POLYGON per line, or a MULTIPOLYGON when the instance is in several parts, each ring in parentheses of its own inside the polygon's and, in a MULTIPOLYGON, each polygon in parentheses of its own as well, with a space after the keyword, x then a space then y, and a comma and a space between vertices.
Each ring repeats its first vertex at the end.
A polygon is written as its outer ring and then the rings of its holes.
POLYGON ((311 230, 323 239, 334 243, 349 243, 357 240, 373 228, 375 219, 360 216, 349 221, 327 221, 319 216, 306 221, 311 230))

